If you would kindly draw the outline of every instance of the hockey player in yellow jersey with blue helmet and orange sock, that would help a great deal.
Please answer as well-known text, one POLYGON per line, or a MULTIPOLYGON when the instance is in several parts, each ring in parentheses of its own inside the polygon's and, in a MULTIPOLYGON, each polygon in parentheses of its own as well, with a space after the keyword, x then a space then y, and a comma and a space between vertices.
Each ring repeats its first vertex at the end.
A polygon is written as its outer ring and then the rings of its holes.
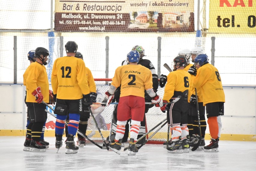
POLYGON ((225 95, 218 69, 208 62, 206 54, 198 55, 194 60, 194 67, 188 72, 192 75, 193 85, 200 88, 203 97, 203 105, 206 106, 206 116, 211 135, 211 143, 204 147, 205 152, 218 152, 221 121, 220 115, 224 115, 225 95))

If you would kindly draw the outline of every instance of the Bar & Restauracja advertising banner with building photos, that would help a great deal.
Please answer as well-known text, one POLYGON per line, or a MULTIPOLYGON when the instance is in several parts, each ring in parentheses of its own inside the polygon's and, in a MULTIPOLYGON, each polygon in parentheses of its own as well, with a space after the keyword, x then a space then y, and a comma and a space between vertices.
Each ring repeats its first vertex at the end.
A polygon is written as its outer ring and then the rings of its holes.
POLYGON ((194 32, 194 1, 56 0, 54 30, 194 32))

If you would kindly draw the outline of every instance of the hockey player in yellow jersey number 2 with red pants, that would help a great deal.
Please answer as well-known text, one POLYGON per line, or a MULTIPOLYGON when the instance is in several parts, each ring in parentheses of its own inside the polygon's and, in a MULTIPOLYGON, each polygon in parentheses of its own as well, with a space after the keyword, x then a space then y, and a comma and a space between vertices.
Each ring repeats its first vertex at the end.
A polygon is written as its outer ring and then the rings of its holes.
POLYGON ((130 51, 127 54, 128 65, 117 67, 112 83, 105 93, 108 106, 114 98, 114 92, 121 85, 120 100, 117 107, 117 130, 115 142, 109 148, 120 154, 125 125, 131 118, 130 145, 128 155, 135 155, 138 149, 135 146, 139 133, 140 122, 143 121, 145 112, 145 90, 153 98, 156 107, 163 106, 163 101, 153 90, 152 73, 139 62, 139 52, 130 51))

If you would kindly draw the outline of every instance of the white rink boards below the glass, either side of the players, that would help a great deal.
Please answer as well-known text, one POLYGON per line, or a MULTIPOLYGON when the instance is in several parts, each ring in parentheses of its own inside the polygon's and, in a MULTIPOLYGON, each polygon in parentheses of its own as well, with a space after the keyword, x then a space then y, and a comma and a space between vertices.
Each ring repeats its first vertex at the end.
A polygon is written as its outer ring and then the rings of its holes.
MULTIPOLYGON (((256 134, 256 86, 225 86, 226 103, 221 134, 256 134)), ((0 84, 0 130, 25 130, 25 88, 22 84, 0 84)), ((50 119, 50 118, 49 118, 50 119)), ((55 122, 55 121, 54 121, 55 122)), ((209 130, 206 130, 209 133, 209 130)))

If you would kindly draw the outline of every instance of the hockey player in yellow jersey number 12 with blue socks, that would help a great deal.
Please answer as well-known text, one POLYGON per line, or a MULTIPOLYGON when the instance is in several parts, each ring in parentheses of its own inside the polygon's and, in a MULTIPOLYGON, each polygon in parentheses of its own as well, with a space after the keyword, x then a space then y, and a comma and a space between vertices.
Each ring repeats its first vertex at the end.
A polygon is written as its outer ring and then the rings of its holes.
POLYGON ((62 134, 69 114, 66 154, 78 152, 79 148, 75 146, 74 135, 78 129, 80 114, 83 113, 83 103, 91 102, 88 82, 84 79, 87 74, 84 61, 75 57, 77 49, 78 45, 74 41, 66 43, 67 56, 54 61, 51 77, 53 93, 56 94, 55 147, 58 150, 62 146, 62 134))

